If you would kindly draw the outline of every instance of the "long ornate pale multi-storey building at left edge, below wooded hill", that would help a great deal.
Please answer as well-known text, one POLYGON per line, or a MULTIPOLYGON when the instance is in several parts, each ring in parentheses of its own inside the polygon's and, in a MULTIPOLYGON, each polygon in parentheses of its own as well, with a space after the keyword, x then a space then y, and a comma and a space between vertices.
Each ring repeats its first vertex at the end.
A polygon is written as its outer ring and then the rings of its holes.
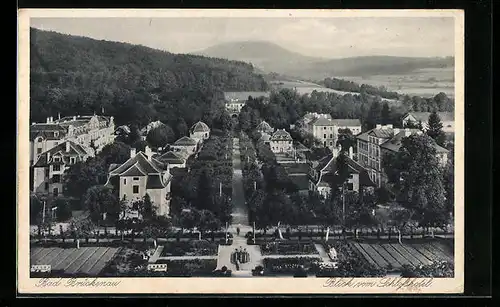
POLYGON ((30 164, 36 163, 43 152, 57 145, 72 141, 95 155, 104 146, 115 140, 113 117, 68 116, 54 120, 48 117, 45 123, 33 123, 30 126, 30 164))

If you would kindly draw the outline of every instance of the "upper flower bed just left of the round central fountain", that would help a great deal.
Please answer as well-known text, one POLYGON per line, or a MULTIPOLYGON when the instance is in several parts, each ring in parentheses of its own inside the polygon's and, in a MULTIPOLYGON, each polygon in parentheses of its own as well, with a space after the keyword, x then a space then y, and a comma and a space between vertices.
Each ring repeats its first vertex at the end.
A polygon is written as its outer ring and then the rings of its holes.
POLYGON ((189 242, 167 242, 160 257, 168 256, 215 256, 218 244, 206 240, 189 242))

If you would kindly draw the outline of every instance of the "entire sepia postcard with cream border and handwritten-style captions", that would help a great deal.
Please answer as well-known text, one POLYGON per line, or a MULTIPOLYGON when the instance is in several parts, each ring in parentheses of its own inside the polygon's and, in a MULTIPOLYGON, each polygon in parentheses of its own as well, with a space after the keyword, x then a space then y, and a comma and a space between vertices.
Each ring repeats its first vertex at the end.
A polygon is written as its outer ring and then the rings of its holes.
POLYGON ((460 293, 463 39, 455 10, 21 10, 20 289, 460 293))

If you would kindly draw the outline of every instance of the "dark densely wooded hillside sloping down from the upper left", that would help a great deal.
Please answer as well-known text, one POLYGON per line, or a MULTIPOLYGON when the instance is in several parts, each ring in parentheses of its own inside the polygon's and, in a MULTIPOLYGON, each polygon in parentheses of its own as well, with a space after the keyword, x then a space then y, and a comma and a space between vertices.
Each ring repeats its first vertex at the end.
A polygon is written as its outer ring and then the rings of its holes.
MULTIPOLYGON (((261 91, 247 63, 31 29, 31 121, 105 109, 118 123, 189 125, 221 91, 261 91)), ((213 120, 209 118, 207 120, 213 120)))

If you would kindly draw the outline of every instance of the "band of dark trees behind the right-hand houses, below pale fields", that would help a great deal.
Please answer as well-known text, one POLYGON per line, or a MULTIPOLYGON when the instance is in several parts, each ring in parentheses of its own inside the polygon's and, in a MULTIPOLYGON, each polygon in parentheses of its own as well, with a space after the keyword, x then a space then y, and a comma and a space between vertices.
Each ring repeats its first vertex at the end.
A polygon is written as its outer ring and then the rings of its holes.
POLYGON ((360 119, 363 130, 376 124, 401 126, 402 116, 410 111, 453 111, 453 100, 444 93, 432 98, 405 96, 400 102, 382 101, 380 96, 361 92, 360 95, 339 95, 327 92, 312 92, 300 95, 291 89, 271 93, 269 103, 251 99, 239 114, 239 124, 249 132, 262 120, 276 129, 297 123, 308 112, 327 113, 333 118, 360 119))

